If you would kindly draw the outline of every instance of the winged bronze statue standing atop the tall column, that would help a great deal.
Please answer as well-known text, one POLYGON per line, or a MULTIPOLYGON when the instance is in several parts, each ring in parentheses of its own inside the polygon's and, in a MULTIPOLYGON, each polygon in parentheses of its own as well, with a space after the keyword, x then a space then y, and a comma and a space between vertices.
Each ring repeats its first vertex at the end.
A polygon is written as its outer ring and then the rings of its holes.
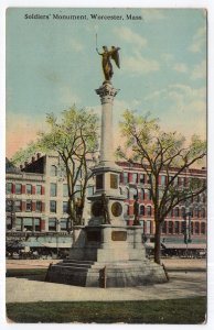
POLYGON ((110 79, 114 75, 113 64, 111 64, 110 59, 114 59, 117 67, 120 68, 120 65, 119 65, 120 47, 111 46, 111 48, 108 51, 107 46, 103 46, 103 50, 104 50, 104 52, 99 53, 98 48, 96 48, 97 53, 103 57, 101 66, 103 66, 103 72, 104 72, 104 76, 105 76, 105 81, 110 81, 110 79))

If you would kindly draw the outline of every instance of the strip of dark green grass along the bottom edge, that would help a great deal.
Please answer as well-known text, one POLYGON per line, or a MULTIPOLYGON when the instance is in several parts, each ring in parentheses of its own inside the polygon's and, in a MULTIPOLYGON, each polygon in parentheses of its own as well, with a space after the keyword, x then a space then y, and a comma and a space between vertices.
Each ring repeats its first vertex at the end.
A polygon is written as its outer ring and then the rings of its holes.
POLYGON ((10 302, 7 316, 18 323, 169 323, 205 322, 206 298, 148 301, 10 302))

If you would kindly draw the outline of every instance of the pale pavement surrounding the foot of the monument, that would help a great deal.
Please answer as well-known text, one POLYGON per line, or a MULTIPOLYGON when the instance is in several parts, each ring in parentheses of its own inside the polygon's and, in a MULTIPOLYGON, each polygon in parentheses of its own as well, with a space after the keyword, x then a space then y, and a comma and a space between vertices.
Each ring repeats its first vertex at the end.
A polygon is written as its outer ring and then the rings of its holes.
MULTIPOLYGON (((7 267, 14 268, 17 265, 26 268, 29 262, 34 267, 47 267, 50 264, 50 261, 8 261, 7 267)), ((164 300, 206 296, 205 260, 163 262, 169 270, 168 283, 133 288, 88 288, 35 280, 30 276, 7 277, 6 302, 164 300)))

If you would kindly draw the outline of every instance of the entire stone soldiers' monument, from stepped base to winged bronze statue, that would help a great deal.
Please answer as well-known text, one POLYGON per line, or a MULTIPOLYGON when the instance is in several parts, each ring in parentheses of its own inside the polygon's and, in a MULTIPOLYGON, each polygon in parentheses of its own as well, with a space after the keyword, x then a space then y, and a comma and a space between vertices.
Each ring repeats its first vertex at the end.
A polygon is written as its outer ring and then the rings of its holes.
MULTIPOLYGON (((93 168, 95 191, 92 217, 86 226, 75 227, 69 257, 49 268, 46 279, 92 287, 133 287, 167 282, 162 266, 146 257, 143 228, 139 221, 126 226, 119 187, 122 169, 116 165, 113 147, 113 106, 118 89, 111 84, 114 61, 119 68, 119 47, 97 53, 101 56, 105 80, 96 89, 101 103, 100 160, 93 168)), ((136 213, 137 216, 137 213, 136 213)))

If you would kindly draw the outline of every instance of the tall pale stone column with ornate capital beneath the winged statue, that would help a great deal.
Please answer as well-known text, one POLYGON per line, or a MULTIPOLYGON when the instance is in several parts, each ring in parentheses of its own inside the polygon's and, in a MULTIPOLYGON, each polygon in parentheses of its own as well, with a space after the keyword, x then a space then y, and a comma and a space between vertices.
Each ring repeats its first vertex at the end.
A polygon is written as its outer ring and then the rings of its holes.
POLYGON ((115 89, 110 82, 104 82, 96 89, 101 102, 101 143, 100 143, 100 165, 114 163, 113 143, 113 105, 114 98, 119 89, 115 89))

